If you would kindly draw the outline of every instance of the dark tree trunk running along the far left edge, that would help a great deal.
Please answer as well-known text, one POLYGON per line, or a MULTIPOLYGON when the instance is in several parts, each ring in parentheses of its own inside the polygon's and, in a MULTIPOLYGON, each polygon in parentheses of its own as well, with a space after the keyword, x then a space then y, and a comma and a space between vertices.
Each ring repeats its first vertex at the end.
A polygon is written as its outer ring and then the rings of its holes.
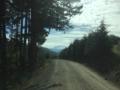
POLYGON ((0 1, 0 90, 7 90, 7 56, 6 56, 6 30, 5 30, 5 0, 0 1))

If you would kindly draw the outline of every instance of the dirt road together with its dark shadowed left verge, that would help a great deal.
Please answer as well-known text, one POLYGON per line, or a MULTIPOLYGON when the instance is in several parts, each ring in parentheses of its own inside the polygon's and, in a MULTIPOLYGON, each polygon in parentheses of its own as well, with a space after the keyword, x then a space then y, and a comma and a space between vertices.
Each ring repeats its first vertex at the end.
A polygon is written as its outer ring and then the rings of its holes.
POLYGON ((15 90, 120 90, 86 66, 53 60, 44 72, 35 70, 30 80, 15 90))

